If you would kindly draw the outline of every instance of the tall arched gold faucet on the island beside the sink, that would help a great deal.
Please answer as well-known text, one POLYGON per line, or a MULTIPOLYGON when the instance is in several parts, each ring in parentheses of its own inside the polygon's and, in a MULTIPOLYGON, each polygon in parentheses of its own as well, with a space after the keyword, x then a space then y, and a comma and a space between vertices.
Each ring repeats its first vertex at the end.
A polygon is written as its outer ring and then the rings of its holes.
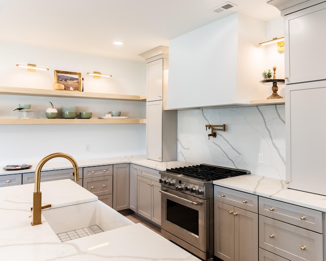
POLYGON ((74 158, 72 158, 72 156, 65 153, 57 152, 57 153, 47 155, 43 160, 41 160, 35 170, 35 191, 33 193, 33 208, 32 208, 32 222, 31 222, 32 226, 42 224, 41 211, 43 208, 47 208, 51 206, 50 204, 42 206, 42 192, 40 192, 40 182, 41 182, 41 169, 43 165, 47 161, 53 158, 65 158, 69 160, 73 166, 74 179, 75 181, 79 180, 77 162, 75 161, 74 158))

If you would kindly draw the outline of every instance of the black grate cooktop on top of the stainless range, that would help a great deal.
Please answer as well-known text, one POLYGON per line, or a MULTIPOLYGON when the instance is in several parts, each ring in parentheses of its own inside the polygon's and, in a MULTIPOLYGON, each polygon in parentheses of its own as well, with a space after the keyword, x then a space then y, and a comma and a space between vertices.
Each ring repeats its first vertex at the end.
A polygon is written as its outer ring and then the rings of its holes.
POLYGON ((167 169, 168 172, 199 178, 206 181, 249 174, 248 170, 232 169, 221 166, 200 164, 188 167, 167 169))

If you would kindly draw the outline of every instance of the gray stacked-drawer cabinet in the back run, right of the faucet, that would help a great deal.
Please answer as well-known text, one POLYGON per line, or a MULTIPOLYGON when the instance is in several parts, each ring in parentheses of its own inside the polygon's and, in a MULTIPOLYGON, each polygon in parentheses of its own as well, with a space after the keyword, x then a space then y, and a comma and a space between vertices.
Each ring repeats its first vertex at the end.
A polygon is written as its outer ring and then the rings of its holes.
POLYGON ((99 197, 101 201, 113 206, 113 166, 96 166, 83 169, 83 187, 99 197))

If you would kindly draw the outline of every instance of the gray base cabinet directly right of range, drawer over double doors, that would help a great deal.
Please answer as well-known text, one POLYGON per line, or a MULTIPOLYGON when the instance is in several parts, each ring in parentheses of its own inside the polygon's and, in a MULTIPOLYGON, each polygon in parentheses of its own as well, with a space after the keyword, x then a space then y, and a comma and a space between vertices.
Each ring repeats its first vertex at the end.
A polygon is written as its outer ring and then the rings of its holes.
POLYGON ((258 214, 241 205, 257 210, 257 196, 214 187, 214 256, 223 261, 258 261, 258 214))

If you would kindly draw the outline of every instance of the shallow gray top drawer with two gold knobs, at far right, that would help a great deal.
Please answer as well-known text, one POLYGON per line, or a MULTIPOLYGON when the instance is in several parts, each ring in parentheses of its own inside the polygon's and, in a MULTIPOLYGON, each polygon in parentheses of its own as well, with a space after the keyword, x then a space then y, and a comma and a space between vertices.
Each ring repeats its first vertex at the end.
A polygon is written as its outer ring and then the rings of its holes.
POLYGON ((259 197, 259 214, 318 233, 323 232, 322 212, 310 208, 259 197))

